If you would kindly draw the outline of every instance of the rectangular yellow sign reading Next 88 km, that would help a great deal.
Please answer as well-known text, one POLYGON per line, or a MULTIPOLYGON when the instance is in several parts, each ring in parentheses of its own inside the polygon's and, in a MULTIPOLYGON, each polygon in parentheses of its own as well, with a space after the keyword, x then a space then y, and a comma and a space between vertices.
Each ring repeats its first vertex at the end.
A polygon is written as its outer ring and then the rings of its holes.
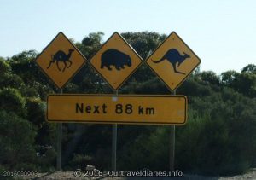
POLYGON ((48 121, 183 125, 186 96, 49 95, 48 121))

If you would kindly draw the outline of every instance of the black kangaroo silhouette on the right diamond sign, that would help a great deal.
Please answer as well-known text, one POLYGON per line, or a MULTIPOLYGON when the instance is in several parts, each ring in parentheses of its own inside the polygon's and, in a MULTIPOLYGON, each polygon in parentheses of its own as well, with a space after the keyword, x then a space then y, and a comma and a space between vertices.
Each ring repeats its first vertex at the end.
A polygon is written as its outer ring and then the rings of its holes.
POLYGON ((184 52, 183 52, 183 54, 184 55, 179 54, 177 49, 169 49, 166 52, 166 55, 164 55, 159 61, 154 61, 154 63, 159 63, 160 61, 167 60, 167 61, 171 62, 173 70, 174 70, 175 73, 185 74, 185 73, 177 71, 177 69, 176 69, 177 67, 179 67, 183 63, 183 61, 185 61, 185 59, 190 57, 190 55, 188 55, 184 52), (176 64, 177 64, 177 67, 176 67, 176 64))

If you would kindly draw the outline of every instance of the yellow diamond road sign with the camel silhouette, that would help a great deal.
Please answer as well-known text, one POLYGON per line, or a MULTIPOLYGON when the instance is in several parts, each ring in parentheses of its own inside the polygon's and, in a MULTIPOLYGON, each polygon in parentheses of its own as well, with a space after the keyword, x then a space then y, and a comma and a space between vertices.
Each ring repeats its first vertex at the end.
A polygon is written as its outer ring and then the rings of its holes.
POLYGON ((67 84, 85 61, 84 55, 62 32, 58 33, 36 60, 38 67, 58 88, 67 84))

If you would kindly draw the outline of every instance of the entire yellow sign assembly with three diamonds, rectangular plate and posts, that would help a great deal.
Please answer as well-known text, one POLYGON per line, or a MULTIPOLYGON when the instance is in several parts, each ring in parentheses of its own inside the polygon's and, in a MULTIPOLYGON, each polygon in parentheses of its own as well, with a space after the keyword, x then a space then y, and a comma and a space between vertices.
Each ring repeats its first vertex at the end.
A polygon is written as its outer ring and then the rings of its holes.
POLYGON ((119 87, 143 63, 118 32, 108 38, 90 64, 116 90, 115 95, 69 95, 62 88, 84 65, 86 59, 60 32, 38 55, 38 67, 61 90, 61 95, 47 97, 46 119, 58 122, 57 169, 61 171, 61 126, 63 122, 113 124, 112 168, 116 171, 117 124, 171 125, 170 169, 174 170, 175 125, 187 120, 187 97, 176 96, 177 87, 189 77, 201 60, 187 44, 172 32, 148 57, 146 63, 173 90, 173 96, 118 95, 119 87))

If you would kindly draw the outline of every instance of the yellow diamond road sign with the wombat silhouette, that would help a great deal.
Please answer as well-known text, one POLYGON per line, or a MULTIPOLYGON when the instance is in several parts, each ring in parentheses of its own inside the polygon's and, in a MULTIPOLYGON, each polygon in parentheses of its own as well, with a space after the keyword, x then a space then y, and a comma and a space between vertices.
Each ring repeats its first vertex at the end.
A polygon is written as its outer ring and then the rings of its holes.
POLYGON ((114 32, 102 48, 93 55, 90 64, 113 90, 117 90, 136 71, 142 61, 130 44, 118 32, 114 32))

